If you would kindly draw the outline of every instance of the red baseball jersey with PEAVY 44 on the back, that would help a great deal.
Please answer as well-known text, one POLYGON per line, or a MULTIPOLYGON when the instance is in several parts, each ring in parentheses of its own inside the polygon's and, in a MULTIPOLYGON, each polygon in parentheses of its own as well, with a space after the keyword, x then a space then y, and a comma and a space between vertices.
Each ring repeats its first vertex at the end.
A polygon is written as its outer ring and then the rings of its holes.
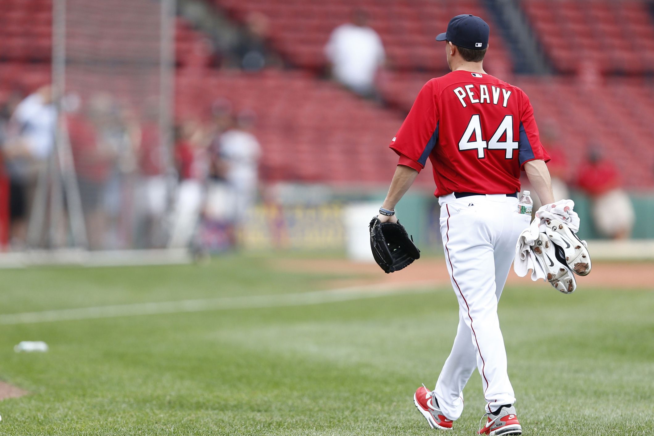
POLYGON ((525 162, 549 161, 525 92, 462 70, 422 87, 390 148, 417 171, 432 161, 436 196, 514 193, 525 162))

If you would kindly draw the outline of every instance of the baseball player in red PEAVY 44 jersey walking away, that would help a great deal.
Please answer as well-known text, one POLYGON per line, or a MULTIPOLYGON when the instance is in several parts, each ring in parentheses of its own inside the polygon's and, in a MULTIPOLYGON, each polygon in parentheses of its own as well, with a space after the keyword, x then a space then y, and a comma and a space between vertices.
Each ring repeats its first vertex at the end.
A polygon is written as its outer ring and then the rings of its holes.
POLYGON ((543 204, 552 203, 549 156, 525 92, 483 69, 489 25, 458 15, 436 41, 445 41, 451 73, 422 87, 392 139, 400 160, 378 216, 396 222, 395 205, 430 159, 459 322, 436 388, 423 385, 414 401, 432 428, 452 428, 476 367, 487 403, 479 434, 521 435, 497 305, 519 233, 531 220, 518 213, 520 172, 543 204))

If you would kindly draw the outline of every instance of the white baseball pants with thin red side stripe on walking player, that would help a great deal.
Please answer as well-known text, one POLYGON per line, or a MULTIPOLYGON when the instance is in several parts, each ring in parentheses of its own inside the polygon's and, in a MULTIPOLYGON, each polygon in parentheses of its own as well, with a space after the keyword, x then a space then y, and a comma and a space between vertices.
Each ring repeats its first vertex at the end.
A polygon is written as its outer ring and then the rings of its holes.
POLYGON ((459 305, 452 351, 436 383, 443 414, 463 411, 463 388, 475 367, 481 375, 486 411, 515 402, 506 371, 506 349, 497 304, 509 275, 518 236, 531 216, 518 213, 515 197, 439 197, 445 261, 459 305))

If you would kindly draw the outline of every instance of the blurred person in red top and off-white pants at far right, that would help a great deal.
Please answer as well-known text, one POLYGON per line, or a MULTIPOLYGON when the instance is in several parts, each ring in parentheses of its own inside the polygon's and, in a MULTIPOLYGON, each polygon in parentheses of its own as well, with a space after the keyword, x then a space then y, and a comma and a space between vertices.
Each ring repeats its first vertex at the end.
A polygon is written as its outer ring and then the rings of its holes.
POLYGON ((593 201, 596 229, 612 239, 628 238, 634 226, 634 207, 621 184, 615 165, 591 146, 587 162, 579 168, 577 185, 593 201))

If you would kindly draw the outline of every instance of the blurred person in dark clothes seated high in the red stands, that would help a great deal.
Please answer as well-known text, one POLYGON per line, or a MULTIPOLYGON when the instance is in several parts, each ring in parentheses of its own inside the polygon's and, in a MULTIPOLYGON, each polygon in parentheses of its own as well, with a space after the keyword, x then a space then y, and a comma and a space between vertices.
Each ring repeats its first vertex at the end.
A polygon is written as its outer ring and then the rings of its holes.
POLYGON ((269 20, 261 12, 250 13, 245 29, 232 49, 235 63, 245 71, 259 71, 264 67, 279 66, 281 60, 268 46, 269 20))

